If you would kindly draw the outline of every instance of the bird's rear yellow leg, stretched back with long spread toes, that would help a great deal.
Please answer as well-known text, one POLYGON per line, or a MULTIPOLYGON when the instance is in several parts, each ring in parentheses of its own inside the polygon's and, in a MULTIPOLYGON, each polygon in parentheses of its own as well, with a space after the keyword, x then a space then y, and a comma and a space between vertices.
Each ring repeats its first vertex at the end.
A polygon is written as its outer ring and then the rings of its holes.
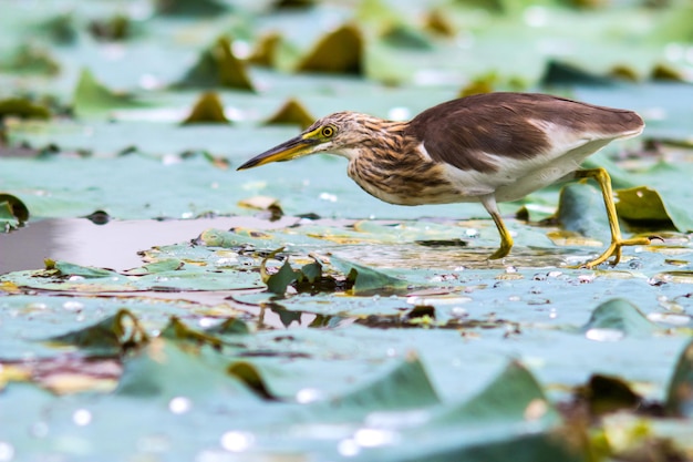
POLYGON ((588 261, 582 267, 592 268, 601 265, 609 258, 613 257, 611 265, 617 265, 621 260, 621 247, 623 246, 642 246, 649 245, 650 238, 635 237, 632 239, 623 239, 621 237, 621 228, 619 227, 619 217, 616 214, 616 205, 613 204, 613 192, 611 191, 611 177, 603 168, 582 170, 576 172, 576 178, 594 178, 599 183, 601 194, 607 206, 607 217, 609 218, 609 227, 611 228, 611 245, 603 254, 588 261))

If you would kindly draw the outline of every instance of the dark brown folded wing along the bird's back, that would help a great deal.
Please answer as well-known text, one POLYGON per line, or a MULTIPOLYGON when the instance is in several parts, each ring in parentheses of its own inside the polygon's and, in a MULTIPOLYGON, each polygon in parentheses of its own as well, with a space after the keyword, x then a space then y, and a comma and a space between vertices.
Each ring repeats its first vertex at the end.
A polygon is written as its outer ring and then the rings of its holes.
POLYGON ((547 127, 561 127, 566 145, 638 133, 632 111, 579 103, 546 94, 487 93, 448 101, 414 117, 410 134, 432 160, 463 171, 497 171, 497 157, 531 158, 560 146, 547 127))

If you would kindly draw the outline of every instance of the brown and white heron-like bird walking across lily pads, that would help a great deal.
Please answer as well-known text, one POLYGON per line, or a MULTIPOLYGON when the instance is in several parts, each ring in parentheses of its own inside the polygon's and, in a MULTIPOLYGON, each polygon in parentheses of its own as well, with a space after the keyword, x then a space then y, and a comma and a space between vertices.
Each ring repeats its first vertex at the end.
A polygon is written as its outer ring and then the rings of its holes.
POLYGON ((499 202, 561 181, 593 178, 611 232, 609 247, 581 265, 593 268, 611 257, 617 265, 622 247, 648 245, 650 238, 622 237, 609 173, 580 165, 643 129, 640 115, 629 110, 542 93, 482 93, 437 104, 410 121, 335 112, 237 170, 330 153, 349 160, 348 175, 361 188, 391 204, 480 203, 500 235, 489 259, 506 257, 514 244, 499 202))

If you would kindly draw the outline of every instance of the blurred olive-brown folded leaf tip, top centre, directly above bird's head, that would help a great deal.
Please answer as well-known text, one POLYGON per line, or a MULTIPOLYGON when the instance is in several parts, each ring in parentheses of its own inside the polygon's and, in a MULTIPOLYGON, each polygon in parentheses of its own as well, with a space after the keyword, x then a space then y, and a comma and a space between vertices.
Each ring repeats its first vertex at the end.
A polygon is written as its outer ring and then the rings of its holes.
POLYGON ((297 66, 298 72, 363 73, 363 38, 355 25, 342 25, 316 44, 297 66))

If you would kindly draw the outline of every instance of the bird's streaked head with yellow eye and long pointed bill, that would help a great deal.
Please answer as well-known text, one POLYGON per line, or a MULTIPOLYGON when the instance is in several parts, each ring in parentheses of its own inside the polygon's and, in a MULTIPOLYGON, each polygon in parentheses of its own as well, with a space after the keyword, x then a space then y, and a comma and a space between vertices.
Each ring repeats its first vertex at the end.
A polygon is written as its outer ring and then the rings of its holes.
POLYGON ((380 119, 356 112, 337 112, 316 121, 300 135, 263 152, 237 170, 331 152, 352 157, 358 146, 379 133, 380 119))

